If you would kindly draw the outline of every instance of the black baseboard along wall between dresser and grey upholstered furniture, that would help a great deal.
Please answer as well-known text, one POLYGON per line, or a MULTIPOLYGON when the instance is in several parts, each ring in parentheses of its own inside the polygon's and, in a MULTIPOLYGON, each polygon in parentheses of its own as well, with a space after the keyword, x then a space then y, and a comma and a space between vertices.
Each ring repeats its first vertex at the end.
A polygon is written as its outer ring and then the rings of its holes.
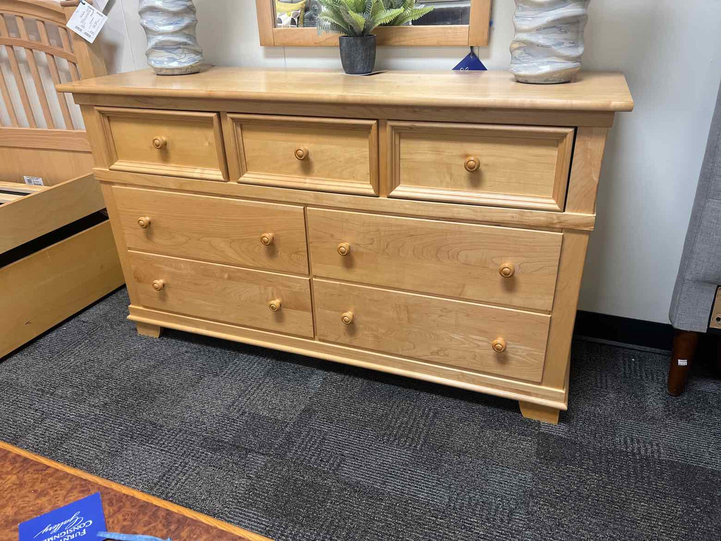
POLYGON ((576 312, 573 334, 668 351, 671 351, 673 344, 673 327, 670 323, 632 320, 630 317, 597 314, 583 310, 576 312))

